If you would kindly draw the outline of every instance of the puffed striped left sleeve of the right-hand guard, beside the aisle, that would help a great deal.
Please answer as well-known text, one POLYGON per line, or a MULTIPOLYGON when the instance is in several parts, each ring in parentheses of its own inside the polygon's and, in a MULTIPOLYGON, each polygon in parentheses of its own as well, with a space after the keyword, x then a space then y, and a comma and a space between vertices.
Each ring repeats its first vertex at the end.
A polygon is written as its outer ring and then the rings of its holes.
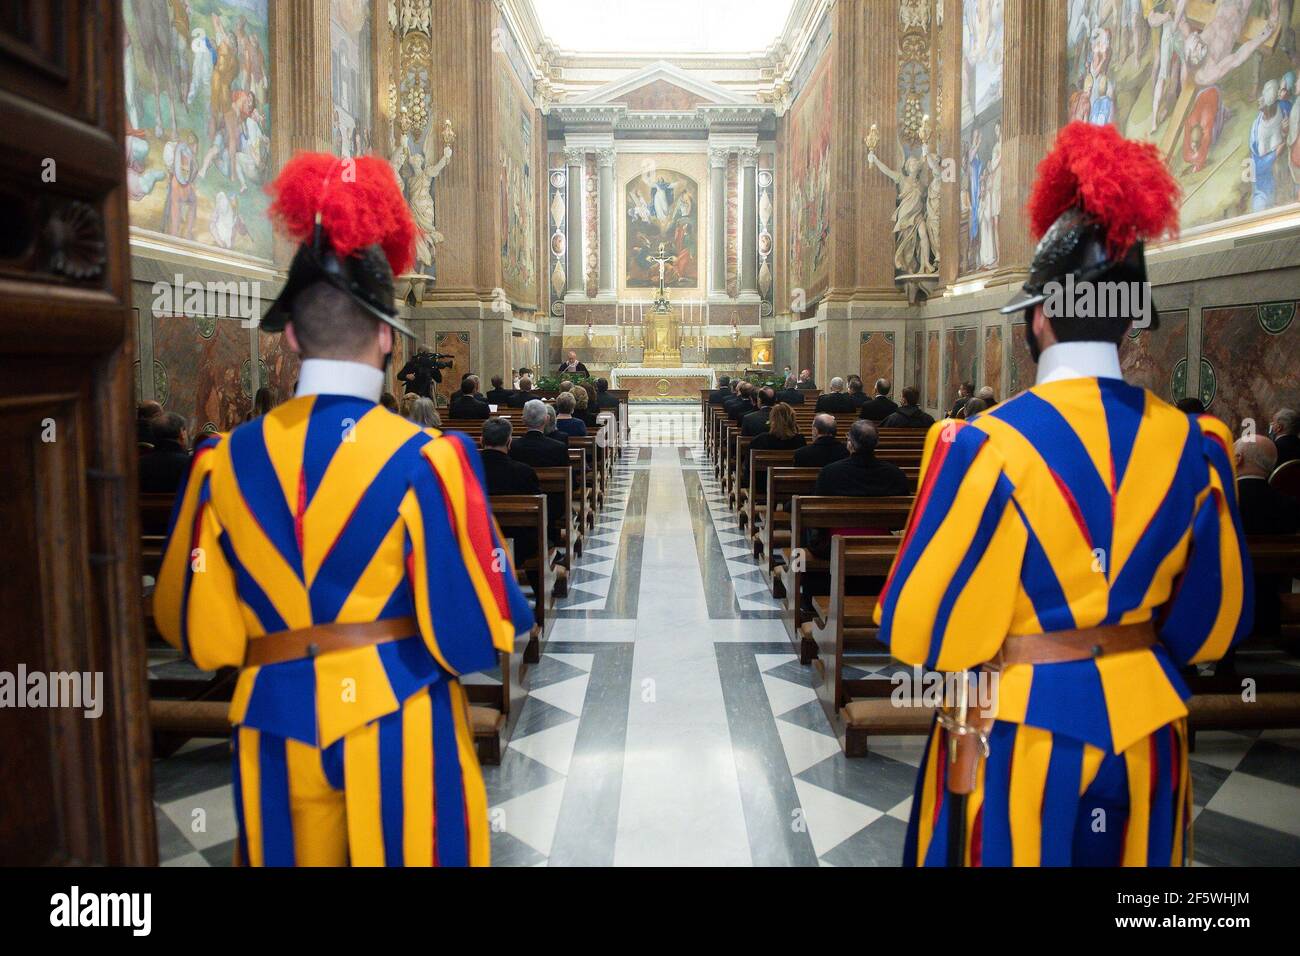
POLYGON ((1027 537, 1013 490, 988 434, 958 421, 931 427, 916 502, 875 611, 900 661, 966 670, 997 652, 1027 537))

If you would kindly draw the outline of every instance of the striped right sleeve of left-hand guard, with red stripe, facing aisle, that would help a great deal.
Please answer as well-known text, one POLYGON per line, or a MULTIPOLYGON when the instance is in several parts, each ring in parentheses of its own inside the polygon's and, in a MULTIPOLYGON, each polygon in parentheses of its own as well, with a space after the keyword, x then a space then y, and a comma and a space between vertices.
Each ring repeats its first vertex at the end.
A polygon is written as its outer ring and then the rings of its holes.
POLYGON ((477 451, 446 433, 421 457, 400 506, 420 632, 447 671, 488 670, 532 630, 532 609, 488 507, 477 451))

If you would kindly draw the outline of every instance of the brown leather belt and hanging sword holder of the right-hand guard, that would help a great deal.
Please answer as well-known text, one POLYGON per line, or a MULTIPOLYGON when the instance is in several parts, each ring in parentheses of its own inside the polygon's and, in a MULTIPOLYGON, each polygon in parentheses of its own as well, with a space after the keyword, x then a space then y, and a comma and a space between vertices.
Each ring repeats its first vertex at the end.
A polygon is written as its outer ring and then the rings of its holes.
MULTIPOLYGON (((1156 626, 1150 620, 1083 627, 1078 631, 1009 635, 984 667, 996 671, 1017 663, 1093 661, 1154 645, 1156 626)), ((954 713, 952 708, 940 711, 939 723, 949 734, 945 782, 950 793, 965 795, 975 788, 979 763, 988 757, 988 734, 993 730, 993 721, 992 715, 978 708, 967 709, 963 714, 954 713)))

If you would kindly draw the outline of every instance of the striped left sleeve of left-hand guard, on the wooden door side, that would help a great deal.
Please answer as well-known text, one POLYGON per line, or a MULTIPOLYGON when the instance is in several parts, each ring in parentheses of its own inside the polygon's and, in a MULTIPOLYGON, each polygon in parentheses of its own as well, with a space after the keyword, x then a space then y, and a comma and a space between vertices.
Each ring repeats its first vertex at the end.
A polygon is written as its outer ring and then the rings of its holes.
POLYGON ((212 468, 221 449, 222 437, 214 436, 194 451, 153 588, 159 632, 203 670, 239 666, 247 640, 225 532, 212 503, 212 468))

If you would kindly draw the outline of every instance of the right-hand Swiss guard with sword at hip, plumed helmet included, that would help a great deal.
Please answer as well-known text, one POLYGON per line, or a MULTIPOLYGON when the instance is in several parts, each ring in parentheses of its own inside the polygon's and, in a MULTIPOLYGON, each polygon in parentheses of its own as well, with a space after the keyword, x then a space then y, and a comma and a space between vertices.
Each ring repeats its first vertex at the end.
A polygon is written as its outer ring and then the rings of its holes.
POLYGON ((901 661, 989 671, 949 682, 905 862, 1184 865, 1179 669, 1240 640, 1253 594, 1227 427, 1119 368, 1157 321, 1143 242, 1176 229, 1178 187, 1153 146, 1074 122, 1030 213, 1041 241, 1002 312, 1023 312, 1037 381, 931 428, 875 611, 901 661))

